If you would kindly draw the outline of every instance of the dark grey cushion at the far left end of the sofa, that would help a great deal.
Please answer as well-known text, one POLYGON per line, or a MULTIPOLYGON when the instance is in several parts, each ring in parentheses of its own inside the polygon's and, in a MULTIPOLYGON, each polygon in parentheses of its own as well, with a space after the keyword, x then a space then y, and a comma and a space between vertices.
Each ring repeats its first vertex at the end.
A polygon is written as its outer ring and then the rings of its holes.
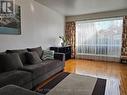
POLYGON ((0 54, 0 73, 22 68, 23 64, 16 53, 0 54))

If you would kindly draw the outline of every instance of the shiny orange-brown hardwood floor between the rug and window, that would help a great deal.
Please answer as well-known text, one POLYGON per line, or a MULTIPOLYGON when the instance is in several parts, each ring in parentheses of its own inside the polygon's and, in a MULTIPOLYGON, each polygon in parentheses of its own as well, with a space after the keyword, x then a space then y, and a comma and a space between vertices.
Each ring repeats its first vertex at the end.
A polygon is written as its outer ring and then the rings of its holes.
POLYGON ((127 95, 127 64, 71 59, 65 72, 107 79, 105 95, 127 95))

